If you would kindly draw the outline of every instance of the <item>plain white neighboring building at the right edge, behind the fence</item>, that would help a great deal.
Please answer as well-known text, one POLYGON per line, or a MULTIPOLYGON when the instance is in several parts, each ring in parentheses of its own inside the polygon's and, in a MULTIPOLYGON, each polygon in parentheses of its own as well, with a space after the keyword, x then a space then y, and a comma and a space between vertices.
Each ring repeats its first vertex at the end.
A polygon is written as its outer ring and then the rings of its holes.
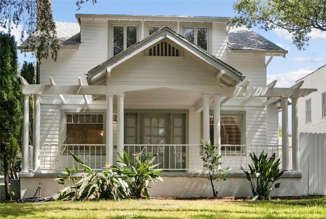
POLYGON ((298 99, 299 132, 326 133, 326 65, 296 82, 300 81, 305 81, 302 88, 317 92, 298 99))

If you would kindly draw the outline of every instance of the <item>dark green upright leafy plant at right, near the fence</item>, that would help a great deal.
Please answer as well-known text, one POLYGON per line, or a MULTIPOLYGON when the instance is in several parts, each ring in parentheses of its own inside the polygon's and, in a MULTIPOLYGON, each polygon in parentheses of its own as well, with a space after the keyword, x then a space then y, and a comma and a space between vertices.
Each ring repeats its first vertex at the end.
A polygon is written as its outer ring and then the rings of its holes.
POLYGON ((275 160, 275 153, 268 157, 268 154, 261 152, 260 156, 257 157, 250 154, 253 160, 253 165, 248 165, 250 173, 241 167, 241 170, 247 175, 250 187, 253 193, 253 200, 270 200, 270 192, 280 187, 280 183, 276 183, 273 187, 274 182, 279 180, 283 175, 284 171, 280 171, 280 159, 275 160))

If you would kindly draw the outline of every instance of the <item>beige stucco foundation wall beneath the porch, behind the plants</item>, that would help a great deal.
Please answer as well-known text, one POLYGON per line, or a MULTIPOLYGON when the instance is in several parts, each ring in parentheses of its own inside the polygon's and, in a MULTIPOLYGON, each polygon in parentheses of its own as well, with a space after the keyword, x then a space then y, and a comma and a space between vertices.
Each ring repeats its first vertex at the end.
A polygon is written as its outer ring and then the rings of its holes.
MULTIPOLYGON (((20 180, 21 198, 33 197, 40 183, 40 196, 57 198, 59 184, 56 174, 24 174, 20 180)), ((149 188, 150 197, 212 197, 212 189, 207 175, 203 173, 161 173, 164 182, 155 182, 149 188)), ((280 188, 271 192, 271 196, 303 196, 302 174, 286 172, 278 181, 280 188)), ((249 181, 244 173, 228 173, 226 181, 214 183, 219 197, 252 196, 249 181)), ((39 191, 36 196, 39 196, 39 191)))

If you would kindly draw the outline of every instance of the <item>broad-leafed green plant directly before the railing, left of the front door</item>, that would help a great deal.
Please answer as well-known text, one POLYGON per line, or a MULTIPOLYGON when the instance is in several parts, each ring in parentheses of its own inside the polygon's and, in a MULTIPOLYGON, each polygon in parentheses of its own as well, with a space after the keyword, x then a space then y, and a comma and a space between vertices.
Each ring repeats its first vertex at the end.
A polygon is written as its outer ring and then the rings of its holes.
POLYGON ((141 198, 143 196, 149 198, 147 188, 151 187, 150 182, 163 181, 158 175, 162 169, 155 169, 159 163, 153 165, 156 155, 147 153, 141 158, 140 156, 144 154, 143 151, 144 149, 140 153, 133 154, 133 163, 125 150, 123 150, 124 157, 118 153, 120 160, 117 160, 117 163, 122 168, 121 173, 127 176, 131 197, 135 198, 141 198))

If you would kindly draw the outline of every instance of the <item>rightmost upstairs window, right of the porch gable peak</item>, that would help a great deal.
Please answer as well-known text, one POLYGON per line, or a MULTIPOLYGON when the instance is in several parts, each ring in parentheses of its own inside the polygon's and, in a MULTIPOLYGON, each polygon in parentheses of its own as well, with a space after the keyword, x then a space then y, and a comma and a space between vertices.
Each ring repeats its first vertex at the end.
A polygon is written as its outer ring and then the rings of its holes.
POLYGON ((207 28, 185 27, 183 29, 183 36, 201 48, 207 50, 207 28))

